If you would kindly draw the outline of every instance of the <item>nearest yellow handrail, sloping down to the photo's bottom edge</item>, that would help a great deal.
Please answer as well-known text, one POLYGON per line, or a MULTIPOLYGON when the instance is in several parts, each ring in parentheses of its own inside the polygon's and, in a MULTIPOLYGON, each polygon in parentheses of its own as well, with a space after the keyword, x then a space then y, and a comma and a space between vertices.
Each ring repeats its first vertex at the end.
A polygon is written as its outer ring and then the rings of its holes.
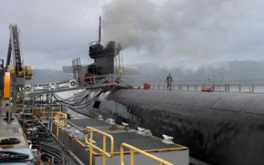
POLYGON ((170 163, 166 160, 162 160, 160 158, 157 158, 156 156, 151 155, 144 150, 140 150, 140 149, 137 149, 133 146, 130 146, 127 143, 122 143, 120 146, 120 162, 121 162, 121 165, 125 165, 125 160, 124 160, 124 149, 125 148, 130 150, 130 165, 135 164, 135 152, 138 152, 138 153, 146 156, 150 160, 156 160, 158 163, 160 163, 160 165, 173 165, 172 163, 170 163))

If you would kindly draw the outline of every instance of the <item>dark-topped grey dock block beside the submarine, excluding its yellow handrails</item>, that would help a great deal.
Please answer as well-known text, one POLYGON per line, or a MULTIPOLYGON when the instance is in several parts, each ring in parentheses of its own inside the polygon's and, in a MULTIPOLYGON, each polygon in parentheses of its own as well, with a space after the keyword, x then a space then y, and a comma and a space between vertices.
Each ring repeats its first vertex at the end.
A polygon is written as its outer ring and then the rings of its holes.
MULTIPOLYGON (((162 143, 161 139, 157 139, 156 137, 144 137, 142 135, 137 134, 137 130, 135 129, 122 129, 122 126, 108 124, 105 120, 98 120, 98 119, 70 119, 68 120, 68 125, 74 124, 78 131, 75 131, 76 128, 71 127, 66 131, 62 131, 59 129, 58 132, 58 140, 61 141, 65 146, 66 150, 70 150, 71 152, 75 153, 79 160, 83 161, 85 164, 89 162, 89 149, 88 145, 84 140, 84 135, 81 133, 82 131, 79 129, 84 129, 86 126, 92 127, 94 129, 99 129, 104 131, 114 138, 114 157, 112 159, 107 159, 107 164, 109 165, 116 165, 120 163, 120 145, 122 143, 127 143, 132 145, 140 150, 145 150, 148 153, 156 155, 159 158, 168 160, 173 162, 174 164, 184 164, 188 165, 188 148, 180 146, 178 144, 167 145, 162 143), (115 129, 116 128, 116 129, 115 129)), ((56 129, 53 130, 53 133, 56 134, 56 129)), ((88 133, 89 139, 89 133, 88 133)), ((96 147, 103 149, 103 135, 94 132, 93 140, 95 141, 94 145, 96 147)), ((107 139, 107 152, 110 151, 110 140, 107 139)), ((125 148, 125 151, 129 153, 130 150, 125 148)), ((93 151, 95 163, 102 164, 102 153, 98 152, 97 150, 93 151)), ((129 157, 129 154, 125 154, 125 157, 129 157), (128 155, 128 156, 127 156, 128 155)), ((144 156, 137 156, 137 160, 139 158, 139 164, 149 164, 149 160, 144 156), (143 161, 141 161, 142 159, 143 161), (141 160, 140 160, 141 159, 141 160)), ((150 160, 151 162, 151 160, 150 160)))

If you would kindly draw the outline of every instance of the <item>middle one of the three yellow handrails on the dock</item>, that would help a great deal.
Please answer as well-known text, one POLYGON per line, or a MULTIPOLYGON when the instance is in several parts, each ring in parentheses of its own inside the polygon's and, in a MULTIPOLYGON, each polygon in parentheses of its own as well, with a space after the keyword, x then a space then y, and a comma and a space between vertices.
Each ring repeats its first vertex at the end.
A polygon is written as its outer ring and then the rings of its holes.
POLYGON ((86 131, 89 132, 90 137, 88 139, 88 134, 86 133, 85 140, 86 144, 89 145, 89 156, 90 156, 90 162, 89 164, 93 164, 93 154, 94 154, 94 149, 102 152, 103 154, 103 165, 106 165, 107 163, 107 157, 111 158, 114 155, 114 138, 112 135, 107 134, 106 132, 103 132, 98 129, 94 129, 91 127, 86 127, 86 131), (93 143, 94 139, 94 133, 98 133, 103 136, 103 149, 98 148, 96 145, 93 143), (110 145, 110 152, 107 152, 107 138, 110 139, 111 145, 110 145))

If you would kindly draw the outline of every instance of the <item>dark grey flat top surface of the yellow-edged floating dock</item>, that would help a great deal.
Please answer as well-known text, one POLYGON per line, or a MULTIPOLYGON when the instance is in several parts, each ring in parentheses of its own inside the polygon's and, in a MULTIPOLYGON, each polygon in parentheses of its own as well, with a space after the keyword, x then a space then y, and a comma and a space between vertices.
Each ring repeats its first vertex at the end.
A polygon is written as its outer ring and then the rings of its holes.
MULTIPOLYGON (((95 129, 100 129, 108 134, 112 135, 115 139, 115 152, 120 151, 121 143, 125 142, 141 150, 149 151, 159 151, 159 150, 185 150, 184 147, 173 144, 167 145, 161 142, 161 139, 156 137, 144 137, 138 135, 135 129, 110 129, 112 125, 108 124, 106 121, 101 121, 98 119, 70 119, 79 128, 85 128, 86 126, 93 127, 95 129)), ((103 137, 97 133, 94 134, 94 140, 96 141, 96 146, 103 148, 103 137)), ((84 142, 84 140, 82 140, 84 142)), ((107 149, 110 149, 109 142, 107 143, 107 149)), ((187 149, 187 148, 186 148, 187 149)))

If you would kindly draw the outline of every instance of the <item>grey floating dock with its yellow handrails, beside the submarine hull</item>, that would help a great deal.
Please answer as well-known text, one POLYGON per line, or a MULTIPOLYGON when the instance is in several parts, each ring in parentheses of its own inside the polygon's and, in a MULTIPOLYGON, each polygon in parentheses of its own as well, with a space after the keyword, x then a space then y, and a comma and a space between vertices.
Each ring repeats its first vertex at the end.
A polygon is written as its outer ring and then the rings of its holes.
MULTIPOLYGON (((59 116, 57 118, 62 119, 63 114, 59 116)), ((162 139, 157 139, 151 134, 140 135, 135 129, 125 129, 124 126, 109 123, 104 119, 92 119, 78 115, 77 118, 65 121, 56 120, 53 128, 53 133, 57 140, 62 142, 65 150, 74 154, 74 157, 84 164, 89 164, 92 159, 92 164, 95 165, 117 165, 120 164, 122 155, 125 164, 129 164, 130 157, 135 157, 135 164, 155 164, 156 160, 147 158, 146 155, 134 155, 136 151, 131 150, 130 146, 167 160, 171 164, 188 165, 189 163, 188 148, 175 143, 165 144, 162 139), (93 150, 88 147, 91 146, 91 139, 93 150)))

